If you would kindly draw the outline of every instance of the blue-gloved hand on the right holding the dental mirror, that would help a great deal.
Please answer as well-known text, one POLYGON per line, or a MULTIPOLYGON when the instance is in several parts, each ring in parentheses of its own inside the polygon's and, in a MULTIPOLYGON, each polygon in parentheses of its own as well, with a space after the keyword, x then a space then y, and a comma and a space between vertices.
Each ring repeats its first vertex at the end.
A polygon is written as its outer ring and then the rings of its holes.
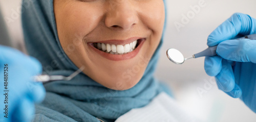
POLYGON ((256 40, 232 40, 251 34, 256 34, 256 20, 233 14, 209 35, 207 45, 218 45, 218 56, 205 57, 204 69, 219 89, 256 112, 256 40))

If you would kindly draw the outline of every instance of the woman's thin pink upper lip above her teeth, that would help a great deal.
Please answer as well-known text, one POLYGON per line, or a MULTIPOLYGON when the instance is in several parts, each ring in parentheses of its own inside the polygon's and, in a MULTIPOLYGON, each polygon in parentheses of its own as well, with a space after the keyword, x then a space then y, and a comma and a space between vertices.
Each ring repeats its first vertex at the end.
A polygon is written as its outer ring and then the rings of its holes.
POLYGON ((90 43, 105 43, 105 44, 114 44, 114 45, 125 45, 130 44, 136 40, 143 39, 141 37, 132 37, 126 40, 105 40, 105 41, 98 41, 98 42, 90 42, 90 43))

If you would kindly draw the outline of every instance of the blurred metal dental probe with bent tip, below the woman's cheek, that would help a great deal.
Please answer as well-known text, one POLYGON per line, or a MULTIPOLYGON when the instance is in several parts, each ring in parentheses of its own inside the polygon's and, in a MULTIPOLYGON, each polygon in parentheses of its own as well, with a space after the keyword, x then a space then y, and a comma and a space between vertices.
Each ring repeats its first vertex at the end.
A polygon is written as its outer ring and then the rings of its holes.
POLYGON ((66 77, 66 76, 62 76, 62 75, 38 75, 38 76, 34 76, 34 82, 50 82, 50 81, 55 81, 55 80, 71 80, 73 77, 75 77, 76 75, 78 75, 80 72, 82 72, 82 70, 85 67, 82 66, 81 68, 79 68, 77 71, 75 71, 74 73, 72 73, 70 76, 66 77))

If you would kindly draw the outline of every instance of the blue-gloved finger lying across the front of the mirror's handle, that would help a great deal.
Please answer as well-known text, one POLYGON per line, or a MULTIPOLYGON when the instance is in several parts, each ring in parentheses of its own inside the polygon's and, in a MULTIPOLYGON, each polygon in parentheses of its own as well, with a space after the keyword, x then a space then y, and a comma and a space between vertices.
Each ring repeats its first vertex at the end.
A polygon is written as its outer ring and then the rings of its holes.
POLYGON ((256 40, 226 40, 218 45, 216 52, 228 60, 256 63, 256 40))

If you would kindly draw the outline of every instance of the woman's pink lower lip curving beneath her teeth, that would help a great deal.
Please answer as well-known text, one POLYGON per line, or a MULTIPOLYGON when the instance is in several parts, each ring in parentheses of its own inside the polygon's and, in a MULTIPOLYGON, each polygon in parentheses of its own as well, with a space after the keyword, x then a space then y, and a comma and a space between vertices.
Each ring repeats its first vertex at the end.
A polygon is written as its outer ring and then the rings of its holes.
POLYGON ((107 59, 110 59, 110 60, 119 61, 119 60, 131 59, 131 58, 135 57, 138 54, 138 52, 140 51, 144 41, 145 41, 145 39, 142 39, 140 44, 138 45, 138 47, 135 50, 133 50, 132 52, 129 52, 127 54, 110 54, 110 53, 100 51, 99 49, 95 48, 92 44, 88 44, 88 45, 92 50, 99 53, 101 56, 103 56, 107 59))

